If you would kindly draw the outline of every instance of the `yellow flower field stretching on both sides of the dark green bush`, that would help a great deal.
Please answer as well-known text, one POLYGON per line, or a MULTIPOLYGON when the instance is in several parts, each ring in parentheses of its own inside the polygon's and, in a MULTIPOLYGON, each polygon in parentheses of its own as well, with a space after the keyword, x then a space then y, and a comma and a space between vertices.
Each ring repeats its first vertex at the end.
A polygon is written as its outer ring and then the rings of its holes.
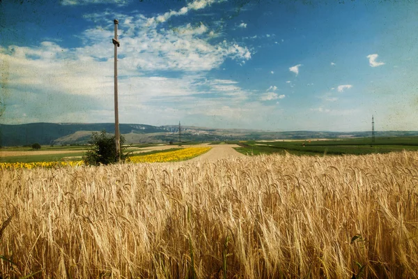
MULTIPOLYGON (((210 147, 189 147, 176 151, 161 152, 144 156, 132 156, 127 159, 128 163, 156 163, 177 162, 188 160, 206 153, 210 147)), ((0 169, 33 169, 34 167, 75 167, 84 165, 84 161, 61 161, 61 162, 33 162, 33 163, 0 163, 0 169)))

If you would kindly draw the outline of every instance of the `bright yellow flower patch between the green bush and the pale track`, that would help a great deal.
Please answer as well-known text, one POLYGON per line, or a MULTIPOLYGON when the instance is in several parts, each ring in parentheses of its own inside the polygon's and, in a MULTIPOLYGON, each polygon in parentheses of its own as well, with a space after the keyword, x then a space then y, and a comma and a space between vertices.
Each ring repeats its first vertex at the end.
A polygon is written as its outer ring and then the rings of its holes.
POLYGON ((210 147, 189 147, 176 151, 168 151, 143 156, 132 156, 128 158, 130 163, 157 163, 157 162, 177 162, 188 160, 206 153, 210 147))

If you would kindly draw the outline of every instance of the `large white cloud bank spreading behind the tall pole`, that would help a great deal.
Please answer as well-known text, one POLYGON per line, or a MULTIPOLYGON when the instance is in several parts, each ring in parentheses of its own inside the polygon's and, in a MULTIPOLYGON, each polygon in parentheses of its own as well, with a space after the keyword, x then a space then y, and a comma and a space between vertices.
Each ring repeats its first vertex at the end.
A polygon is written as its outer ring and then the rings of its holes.
MULTIPOLYGON (((201 5, 215 3, 198 2, 201 5)), ((187 6, 177 10, 176 15, 187 13, 189 9, 187 6)), ((49 41, 31 47, 0 46, 0 65, 10 66, 8 86, 13 90, 6 101, 18 104, 15 109, 8 106, 2 116, 4 123, 22 121, 18 119, 22 119, 23 114, 26 114, 24 121, 33 122, 112 121, 114 59, 109 38, 114 34, 113 27, 106 27, 109 24, 105 19, 110 15, 103 15, 85 16, 95 26, 77 34, 80 44, 74 48, 49 41), (45 105, 52 108, 45 110, 45 105)), ((251 118, 259 117, 265 105, 258 96, 254 96, 257 101, 249 101, 249 96, 254 94, 252 91, 242 89, 234 80, 206 81, 207 71, 219 68, 226 59, 238 63, 251 59, 251 51, 245 45, 226 40, 214 43, 208 40, 213 31, 201 23, 164 29, 157 28, 156 24, 145 27, 148 18, 144 15, 117 15, 116 18, 124 19, 120 22, 121 47, 118 49, 121 122, 141 119, 143 123, 155 124, 165 119, 179 119, 199 106, 199 110, 194 111, 199 117, 212 113, 235 119, 233 113, 236 112, 249 123, 252 123, 251 118), (172 75, 164 75, 164 71, 176 71, 178 75, 171 78, 172 75), (243 110, 247 104, 251 108, 243 110), (206 105, 212 105, 212 110, 206 111, 206 105), (170 107, 176 107, 176 112, 167 116, 164 112, 170 107)), ((263 114, 267 110, 270 108, 263 114)), ((210 123, 210 119, 206 123, 210 123)))

